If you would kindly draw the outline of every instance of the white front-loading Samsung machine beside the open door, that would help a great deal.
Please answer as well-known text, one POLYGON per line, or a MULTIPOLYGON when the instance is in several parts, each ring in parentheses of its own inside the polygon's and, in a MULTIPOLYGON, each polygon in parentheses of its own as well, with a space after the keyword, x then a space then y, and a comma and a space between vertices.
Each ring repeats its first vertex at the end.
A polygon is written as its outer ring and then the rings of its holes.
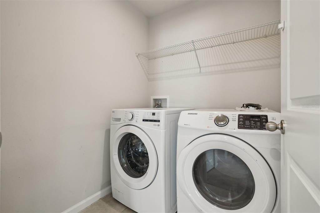
POLYGON ((275 111, 204 109, 180 115, 178 212, 280 212, 275 111))

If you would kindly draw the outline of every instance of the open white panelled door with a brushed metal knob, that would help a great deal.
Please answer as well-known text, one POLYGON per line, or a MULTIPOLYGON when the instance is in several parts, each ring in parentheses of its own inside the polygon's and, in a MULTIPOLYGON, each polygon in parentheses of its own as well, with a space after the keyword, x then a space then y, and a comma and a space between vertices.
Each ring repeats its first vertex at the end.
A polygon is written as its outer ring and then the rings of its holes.
POLYGON ((320 1, 281 1, 281 212, 320 212, 320 1))

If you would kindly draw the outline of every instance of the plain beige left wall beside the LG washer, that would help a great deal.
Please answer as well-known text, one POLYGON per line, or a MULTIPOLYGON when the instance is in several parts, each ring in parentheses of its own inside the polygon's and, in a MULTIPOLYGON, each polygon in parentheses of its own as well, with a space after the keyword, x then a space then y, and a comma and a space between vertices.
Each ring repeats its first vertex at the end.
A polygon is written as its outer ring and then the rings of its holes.
POLYGON ((1 212, 110 185, 112 108, 146 107, 148 20, 123 1, 1 1, 1 212))

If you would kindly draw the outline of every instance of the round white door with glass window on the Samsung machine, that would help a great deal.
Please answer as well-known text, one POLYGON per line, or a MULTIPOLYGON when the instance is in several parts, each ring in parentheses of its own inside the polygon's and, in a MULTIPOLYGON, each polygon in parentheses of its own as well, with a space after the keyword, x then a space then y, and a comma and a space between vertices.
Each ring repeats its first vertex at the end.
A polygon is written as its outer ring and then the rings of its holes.
POLYGON ((276 182, 265 159, 249 144, 211 134, 185 147, 177 180, 201 212, 271 212, 276 182))

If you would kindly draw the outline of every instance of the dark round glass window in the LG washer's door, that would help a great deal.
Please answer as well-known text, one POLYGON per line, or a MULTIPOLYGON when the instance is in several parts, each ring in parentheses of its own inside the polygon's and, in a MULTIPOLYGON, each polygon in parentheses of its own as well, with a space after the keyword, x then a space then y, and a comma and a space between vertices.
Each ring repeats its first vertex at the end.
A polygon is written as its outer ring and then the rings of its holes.
POLYGON ((142 177, 148 170, 148 150, 135 134, 128 133, 121 138, 118 157, 121 167, 130 177, 142 177))

